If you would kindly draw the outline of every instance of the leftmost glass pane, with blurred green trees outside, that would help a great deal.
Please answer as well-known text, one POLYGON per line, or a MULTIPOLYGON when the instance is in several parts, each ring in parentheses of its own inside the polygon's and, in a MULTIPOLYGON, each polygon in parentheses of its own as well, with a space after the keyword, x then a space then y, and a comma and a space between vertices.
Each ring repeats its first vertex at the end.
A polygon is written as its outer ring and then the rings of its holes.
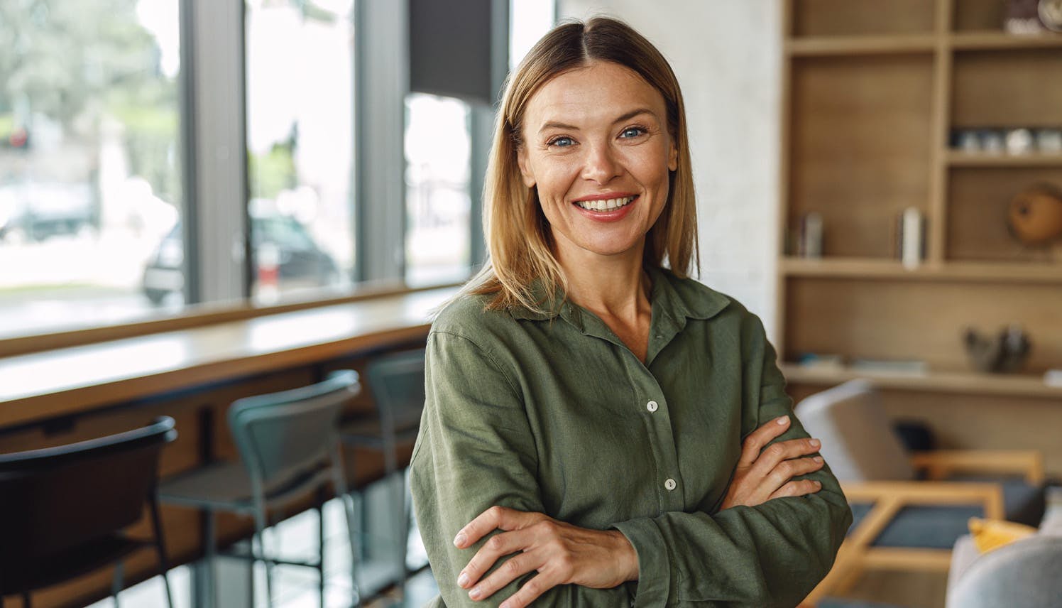
POLYGON ((149 267, 182 202, 178 23, 178 0, 2 3, 0 337, 181 306, 181 256, 162 291, 149 267))

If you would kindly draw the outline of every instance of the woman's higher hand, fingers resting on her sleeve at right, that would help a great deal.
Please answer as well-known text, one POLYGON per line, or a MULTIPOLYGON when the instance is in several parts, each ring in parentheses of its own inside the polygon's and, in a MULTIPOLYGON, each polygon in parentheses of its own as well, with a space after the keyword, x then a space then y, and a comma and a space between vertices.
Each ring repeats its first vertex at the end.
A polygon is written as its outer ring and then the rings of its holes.
POLYGON ((789 417, 776 418, 753 430, 741 443, 741 458, 720 509, 737 505, 755 506, 782 496, 803 496, 818 492, 822 484, 812 479, 792 480, 822 469, 822 457, 804 458, 819 451, 818 439, 790 439, 764 447, 789 429, 789 417))

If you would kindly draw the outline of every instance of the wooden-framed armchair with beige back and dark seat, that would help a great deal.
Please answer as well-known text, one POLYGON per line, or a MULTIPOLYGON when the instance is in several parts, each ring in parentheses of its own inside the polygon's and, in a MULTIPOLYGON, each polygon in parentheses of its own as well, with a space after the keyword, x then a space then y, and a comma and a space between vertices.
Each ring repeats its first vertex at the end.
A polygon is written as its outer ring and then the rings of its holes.
POLYGON ((855 516, 833 570, 809 604, 843 594, 866 570, 946 572, 950 550, 971 517, 1040 522, 1044 473, 1035 452, 909 454, 892 430, 880 395, 862 379, 812 394, 795 412, 822 440, 820 452, 855 516), (975 471, 988 477, 955 480, 956 474, 975 471), (1006 474, 1018 478, 993 478, 1006 474))

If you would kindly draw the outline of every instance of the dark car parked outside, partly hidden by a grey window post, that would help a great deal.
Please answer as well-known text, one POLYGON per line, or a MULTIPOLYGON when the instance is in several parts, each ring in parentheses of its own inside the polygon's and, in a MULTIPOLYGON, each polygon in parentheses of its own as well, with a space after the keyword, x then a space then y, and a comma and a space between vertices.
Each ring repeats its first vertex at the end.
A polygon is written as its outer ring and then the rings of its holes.
MULTIPOLYGON (((340 282, 336 260, 294 218, 268 215, 252 217, 251 221, 253 250, 259 254, 270 252, 268 257, 276 264, 275 269, 268 269, 268 275, 275 277, 277 290, 328 287, 340 282)), ((185 247, 181 225, 178 221, 148 258, 143 294, 152 304, 160 305, 170 294, 184 292, 185 247)), ((259 266, 262 261, 259 260, 259 266)))

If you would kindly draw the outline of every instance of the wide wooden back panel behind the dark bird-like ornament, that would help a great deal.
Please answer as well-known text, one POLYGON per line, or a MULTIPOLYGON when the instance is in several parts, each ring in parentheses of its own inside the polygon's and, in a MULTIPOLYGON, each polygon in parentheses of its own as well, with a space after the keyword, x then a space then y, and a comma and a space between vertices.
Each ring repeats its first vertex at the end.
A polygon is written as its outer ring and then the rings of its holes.
POLYGON ((1062 367, 1062 289, 1054 284, 971 292, 962 282, 792 277, 787 294, 787 360, 801 352, 840 353, 970 370, 962 347, 966 326, 995 334, 1021 323, 1033 344, 1027 371, 1062 367))

